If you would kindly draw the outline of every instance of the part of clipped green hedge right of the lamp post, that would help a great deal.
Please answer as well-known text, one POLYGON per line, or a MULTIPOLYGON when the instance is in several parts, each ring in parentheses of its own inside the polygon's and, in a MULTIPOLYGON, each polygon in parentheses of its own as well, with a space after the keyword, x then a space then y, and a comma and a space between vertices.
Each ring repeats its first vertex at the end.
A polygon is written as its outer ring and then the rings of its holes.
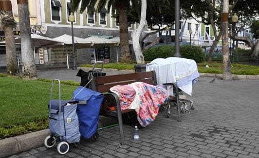
POLYGON ((196 63, 201 63, 205 59, 204 50, 199 46, 183 45, 180 46, 181 57, 193 59, 196 63))

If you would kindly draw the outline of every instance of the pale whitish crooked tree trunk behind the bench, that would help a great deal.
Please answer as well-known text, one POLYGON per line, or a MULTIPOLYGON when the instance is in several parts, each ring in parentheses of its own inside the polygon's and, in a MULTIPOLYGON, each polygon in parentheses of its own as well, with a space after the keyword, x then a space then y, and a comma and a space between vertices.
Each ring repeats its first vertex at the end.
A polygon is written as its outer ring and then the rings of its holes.
POLYGON ((140 23, 137 29, 134 29, 132 33, 133 49, 136 56, 137 64, 145 64, 144 56, 141 51, 139 43, 140 34, 146 27, 146 15, 147 15, 147 0, 141 0, 141 16, 140 23))

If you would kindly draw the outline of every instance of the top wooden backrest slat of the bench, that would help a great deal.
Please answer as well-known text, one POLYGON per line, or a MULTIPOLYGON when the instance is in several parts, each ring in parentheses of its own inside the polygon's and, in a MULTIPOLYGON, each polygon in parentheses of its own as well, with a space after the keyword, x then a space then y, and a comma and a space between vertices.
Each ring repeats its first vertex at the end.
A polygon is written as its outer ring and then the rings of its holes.
POLYGON ((120 82, 120 81, 129 81, 143 78, 153 78, 153 72, 137 72, 137 73, 126 73, 126 74, 118 74, 111 76, 98 76, 97 77, 97 85, 120 82))

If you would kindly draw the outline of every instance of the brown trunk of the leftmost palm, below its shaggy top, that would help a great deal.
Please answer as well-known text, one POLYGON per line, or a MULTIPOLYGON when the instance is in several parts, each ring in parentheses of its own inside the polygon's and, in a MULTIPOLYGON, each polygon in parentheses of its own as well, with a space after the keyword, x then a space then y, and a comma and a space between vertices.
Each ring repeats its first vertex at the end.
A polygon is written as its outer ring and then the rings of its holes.
POLYGON ((5 48, 6 48, 6 72, 9 75, 19 75, 16 59, 15 37, 12 27, 4 26, 5 48))

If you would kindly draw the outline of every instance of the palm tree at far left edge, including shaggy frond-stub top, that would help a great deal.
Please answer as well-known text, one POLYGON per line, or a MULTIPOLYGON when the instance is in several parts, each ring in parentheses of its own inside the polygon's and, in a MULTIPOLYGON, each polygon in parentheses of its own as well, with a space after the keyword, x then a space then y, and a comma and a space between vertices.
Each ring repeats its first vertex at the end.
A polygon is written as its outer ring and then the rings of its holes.
MULTIPOLYGON (((10 6, 10 8, 12 7, 10 6)), ((0 25, 2 26, 5 35, 6 72, 8 75, 19 75, 13 30, 13 28, 16 26, 16 21, 12 15, 12 11, 0 10, 0 25)))

